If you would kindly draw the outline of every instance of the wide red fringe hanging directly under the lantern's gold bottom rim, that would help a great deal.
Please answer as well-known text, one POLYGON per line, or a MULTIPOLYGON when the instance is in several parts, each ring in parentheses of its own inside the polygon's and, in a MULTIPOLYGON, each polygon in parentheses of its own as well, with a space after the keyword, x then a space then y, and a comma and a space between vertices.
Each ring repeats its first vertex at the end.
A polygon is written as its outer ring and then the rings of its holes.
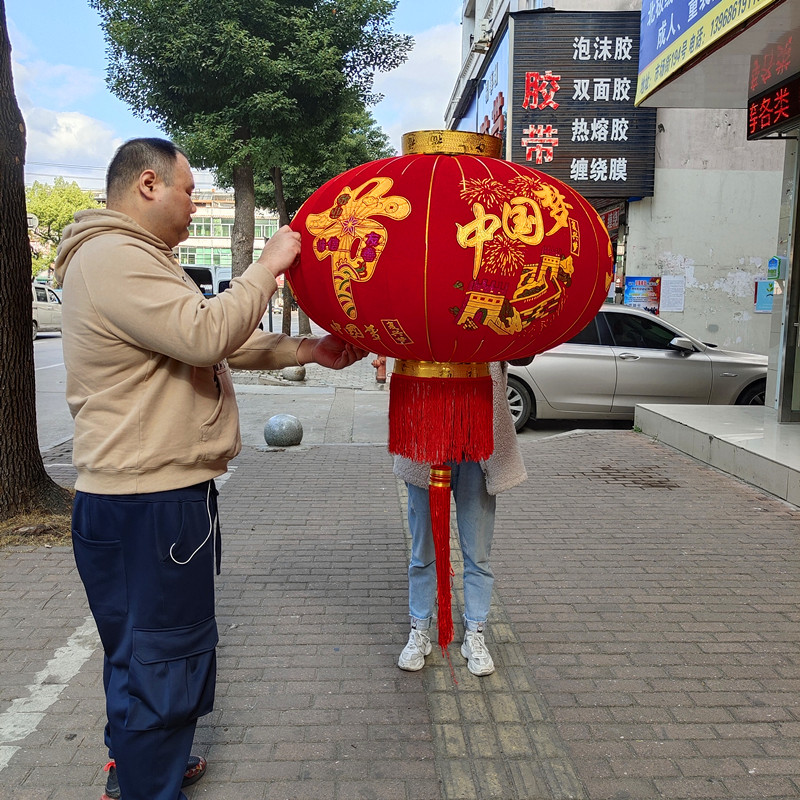
POLYGON ((392 374, 389 452, 423 464, 485 461, 494 451, 492 378, 392 374))

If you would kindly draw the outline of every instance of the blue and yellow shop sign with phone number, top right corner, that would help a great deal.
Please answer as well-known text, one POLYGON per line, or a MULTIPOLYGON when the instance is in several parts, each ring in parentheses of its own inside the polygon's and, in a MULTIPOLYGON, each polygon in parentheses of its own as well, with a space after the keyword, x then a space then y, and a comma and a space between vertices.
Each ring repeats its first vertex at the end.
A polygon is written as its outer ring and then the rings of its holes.
POLYGON ((636 105, 750 17, 782 0, 643 0, 636 105))

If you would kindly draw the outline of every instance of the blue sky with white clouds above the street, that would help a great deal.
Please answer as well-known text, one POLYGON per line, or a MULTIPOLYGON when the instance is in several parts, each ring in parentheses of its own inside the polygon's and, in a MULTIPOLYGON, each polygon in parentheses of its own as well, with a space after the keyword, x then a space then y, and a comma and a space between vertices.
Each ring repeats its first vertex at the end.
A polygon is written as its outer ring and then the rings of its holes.
MULTIPOLYGON (((160 136, 106 88, 105 39, 87 0, 6 0, 17 102, 27 128, 26 183, 58 177, 101 189, 115 149, 135 136, 160 136)), ((397 33, 415 46, 405 64, 376 76, 384 100, 370 110, 400 151, 403 133, 444 127, 461 67, 462 0, 399 0, 397 33)), ((198 188, 210 188, 197 172, 198 188)))

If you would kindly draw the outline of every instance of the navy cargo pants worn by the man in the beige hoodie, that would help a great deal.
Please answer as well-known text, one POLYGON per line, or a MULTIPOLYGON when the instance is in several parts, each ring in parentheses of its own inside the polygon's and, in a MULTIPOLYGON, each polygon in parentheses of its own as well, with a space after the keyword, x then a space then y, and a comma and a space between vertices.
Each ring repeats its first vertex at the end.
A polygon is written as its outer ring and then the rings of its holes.
POLYGON ((78 492, 72 541, 105 651, 105 736, 123 800, 185 800, 197 718, 216 682, 214 483, 78 492))

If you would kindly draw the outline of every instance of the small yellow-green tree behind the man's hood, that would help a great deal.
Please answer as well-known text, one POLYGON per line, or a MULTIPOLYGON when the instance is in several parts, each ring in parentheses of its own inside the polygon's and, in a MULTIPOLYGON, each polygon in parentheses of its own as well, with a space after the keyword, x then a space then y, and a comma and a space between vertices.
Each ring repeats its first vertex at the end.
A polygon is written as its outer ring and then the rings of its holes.
POLYGON ((56 246, 61 233, 73 221, 76 211, 97 208, 100 204, 92 192, 81 189, 77 183, 56 178, 52 186, 34 181, 25 190, 28 211, 39 222, 33 231, 33 274, 50 268, 56 257, 56 246))

